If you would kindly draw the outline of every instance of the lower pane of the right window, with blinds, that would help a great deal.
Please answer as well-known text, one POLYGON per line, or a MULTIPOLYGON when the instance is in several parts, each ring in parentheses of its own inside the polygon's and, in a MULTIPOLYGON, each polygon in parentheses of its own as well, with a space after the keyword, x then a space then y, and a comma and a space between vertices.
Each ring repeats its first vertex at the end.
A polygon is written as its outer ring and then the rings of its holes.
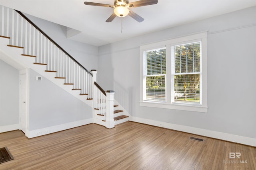
POLYGON ((174 75, 174 101, 200 104, 200 74, 174 75))

